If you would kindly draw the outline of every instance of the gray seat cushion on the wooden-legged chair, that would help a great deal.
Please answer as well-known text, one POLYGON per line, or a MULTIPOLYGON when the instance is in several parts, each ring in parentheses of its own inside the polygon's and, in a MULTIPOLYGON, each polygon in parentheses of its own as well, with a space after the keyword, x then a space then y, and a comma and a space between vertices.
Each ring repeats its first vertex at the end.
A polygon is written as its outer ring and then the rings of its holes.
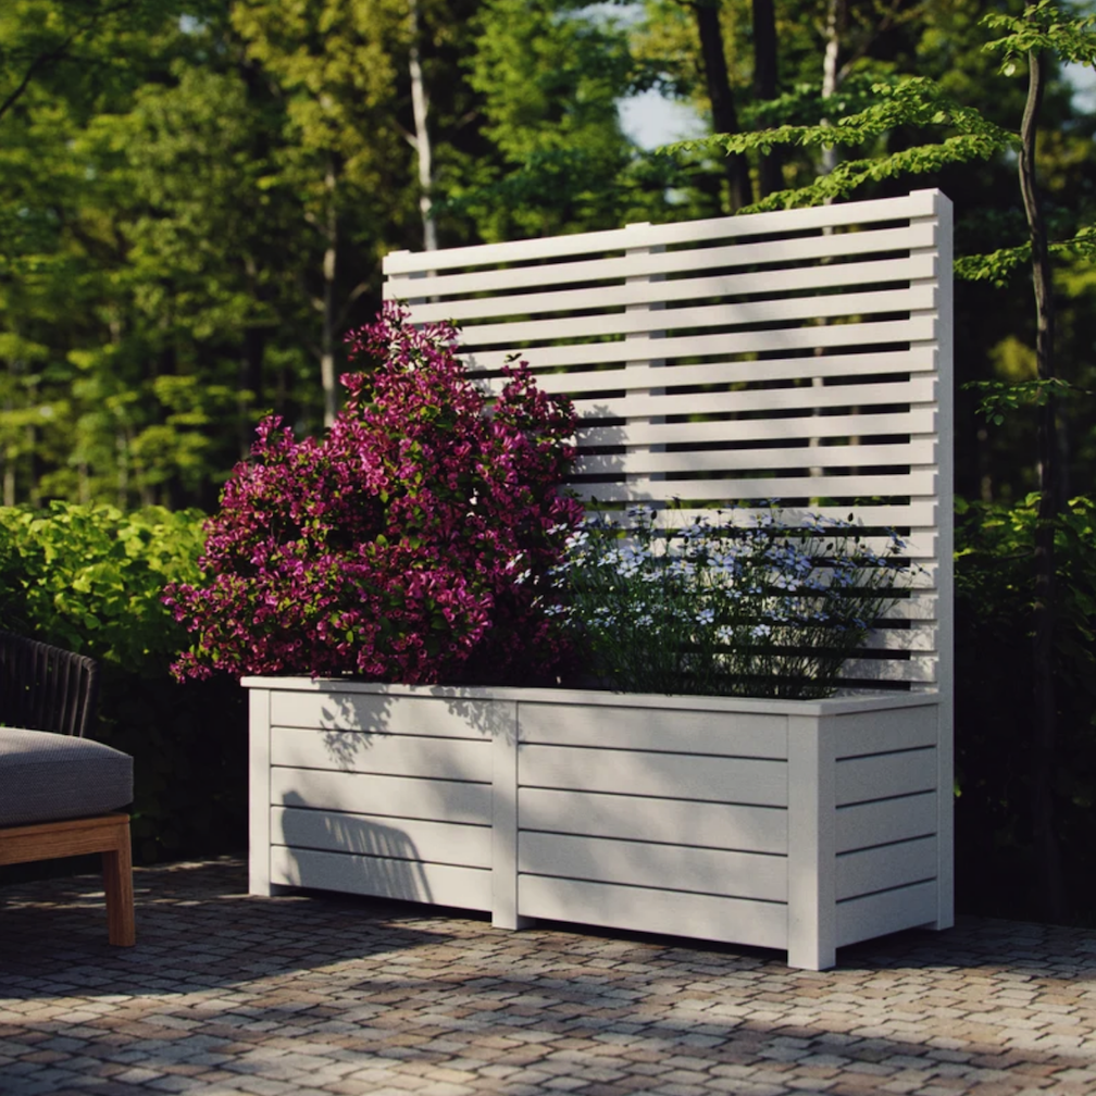
POLYGON ((105 814, 133 798, 129 754, 68 734, 0 727, 0 826, 105 814))

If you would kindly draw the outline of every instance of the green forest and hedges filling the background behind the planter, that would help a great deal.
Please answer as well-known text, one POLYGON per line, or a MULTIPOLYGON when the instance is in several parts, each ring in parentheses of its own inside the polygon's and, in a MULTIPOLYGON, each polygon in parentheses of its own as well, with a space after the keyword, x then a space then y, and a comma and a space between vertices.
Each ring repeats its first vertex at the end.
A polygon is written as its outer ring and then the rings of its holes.
MULTIPOLYGON (((982 20, 1023 11, 1014 0, 7 0, 0 624, 104 661, 104 735, 138 760, 138 857, 242 845, 239 690, 167 684, 185 637, 158 593, 193 572, 201 514, 264 413, 300 434, 330 422, 341 336, 376 312, 388 251, 735 213, 854 155, 879 160, 949 134, 948 117, 932 133, 899 119, 855 153, 650 151, 620 123, 621 101, 643 92, 689 104, 709 132, 749 134, 831 125, 929 78, 1016 133, 1026 68, 1002 71, 982 20)), ((1072 239, 1096 222, 1096 102, 1048 61, 1039 183, 1050 231, 1072 239)), ((1028 239, 1014 149, 869 179, 853 196, 915 186, 955 203, 960 256, 1028 239)), ((1048 389, 1030 270, 956 287, 957 880, 968 912, 1096 923, 1096 267, 1083 249, 1054 263, 1049 754, 1032 730, 1048 389), (990 414, 979 384, 997 386, 990 414)))

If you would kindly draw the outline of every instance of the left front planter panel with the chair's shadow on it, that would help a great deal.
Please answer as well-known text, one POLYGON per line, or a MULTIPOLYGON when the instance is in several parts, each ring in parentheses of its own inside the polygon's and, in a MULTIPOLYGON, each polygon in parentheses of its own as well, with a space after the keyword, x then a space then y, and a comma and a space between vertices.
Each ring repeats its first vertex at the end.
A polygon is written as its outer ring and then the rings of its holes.
POLYGON ((491 909, 488 706, 274 692, 271 877, 491 909))

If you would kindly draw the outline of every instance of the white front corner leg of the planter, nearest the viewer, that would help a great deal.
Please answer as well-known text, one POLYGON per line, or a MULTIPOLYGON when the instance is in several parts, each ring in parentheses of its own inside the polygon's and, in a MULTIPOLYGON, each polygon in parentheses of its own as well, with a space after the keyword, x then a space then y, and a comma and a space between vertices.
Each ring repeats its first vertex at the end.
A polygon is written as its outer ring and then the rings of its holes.
POLYGON ((788 718, 788 966, 837 961, 836 757, 830 724, 788 718))

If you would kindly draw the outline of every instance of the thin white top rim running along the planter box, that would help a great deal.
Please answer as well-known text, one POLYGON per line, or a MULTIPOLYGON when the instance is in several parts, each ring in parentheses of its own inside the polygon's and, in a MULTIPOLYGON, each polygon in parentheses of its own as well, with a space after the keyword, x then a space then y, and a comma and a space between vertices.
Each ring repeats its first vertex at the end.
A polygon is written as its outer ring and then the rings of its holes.
POLYGON ((918 708, 940 701, 937 689, 924 693, 858 693, 822 700, 768 699, 737 696, 666 696, 663 694, 610 693, 606 689, 509 688, 502 686, 381 685, 343 678, 250 676, 244 688, 283 689, 292 693, 359 693, 372 696, 420 696, 453 700, 510 700, 523 704, 594 705, 614 708, 667 708, 706 711, 781 712, 827 716, 887 708, 918 708))

